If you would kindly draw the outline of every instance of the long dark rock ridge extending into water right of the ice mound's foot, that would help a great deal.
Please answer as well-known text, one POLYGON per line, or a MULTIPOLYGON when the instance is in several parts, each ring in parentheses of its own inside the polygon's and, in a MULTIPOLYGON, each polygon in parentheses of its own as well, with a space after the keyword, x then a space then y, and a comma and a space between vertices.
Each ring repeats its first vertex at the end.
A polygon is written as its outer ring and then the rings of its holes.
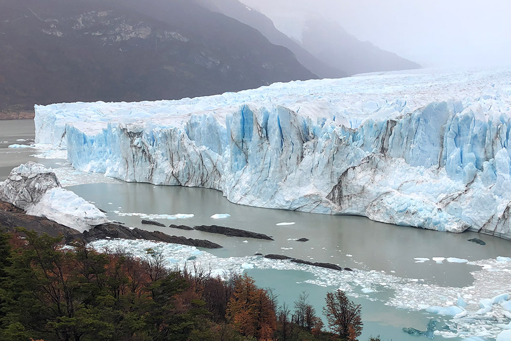
POLYGON ((178 236, 169 236, 160 231, 146 231, 137 228, 127 228, 123 225, 118 224, 102 224, 95 226, 90 229, 90 231, 85 231, 83 233, 84 239, 87 242, 91 242, 99 239, 114 239, 114 238, 122 238, 122 239, 145 239, 145 240, 154 240, 154 241, 162 241, 166 243, 174 243, 181 245, 189 245, 196 247, 204 247, 204 248, 221 248, 222 246, 213 243, 209 240, 204 239, 192 239, 178 236), (108 238, 107 238, 108 237, 108 238))

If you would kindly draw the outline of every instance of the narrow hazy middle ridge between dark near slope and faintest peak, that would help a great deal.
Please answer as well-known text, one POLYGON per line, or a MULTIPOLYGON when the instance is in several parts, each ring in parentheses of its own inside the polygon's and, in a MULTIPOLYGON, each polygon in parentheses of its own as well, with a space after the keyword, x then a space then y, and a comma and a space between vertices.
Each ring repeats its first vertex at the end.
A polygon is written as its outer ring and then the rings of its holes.
POLYGON ((307 67, 320 78, 340 78, 346 73, 327 65, 327 63, 313 56, 309 51, 300 46, 299 43, 277 30, 271 19, 266 15, 242 4, 238 0, 201 0, 202 4, 213 10, 235 18, 244 24, 251 26, 261 32, 268 40, 275 44, 284 46, 294 53, 298 61, 307 67))

